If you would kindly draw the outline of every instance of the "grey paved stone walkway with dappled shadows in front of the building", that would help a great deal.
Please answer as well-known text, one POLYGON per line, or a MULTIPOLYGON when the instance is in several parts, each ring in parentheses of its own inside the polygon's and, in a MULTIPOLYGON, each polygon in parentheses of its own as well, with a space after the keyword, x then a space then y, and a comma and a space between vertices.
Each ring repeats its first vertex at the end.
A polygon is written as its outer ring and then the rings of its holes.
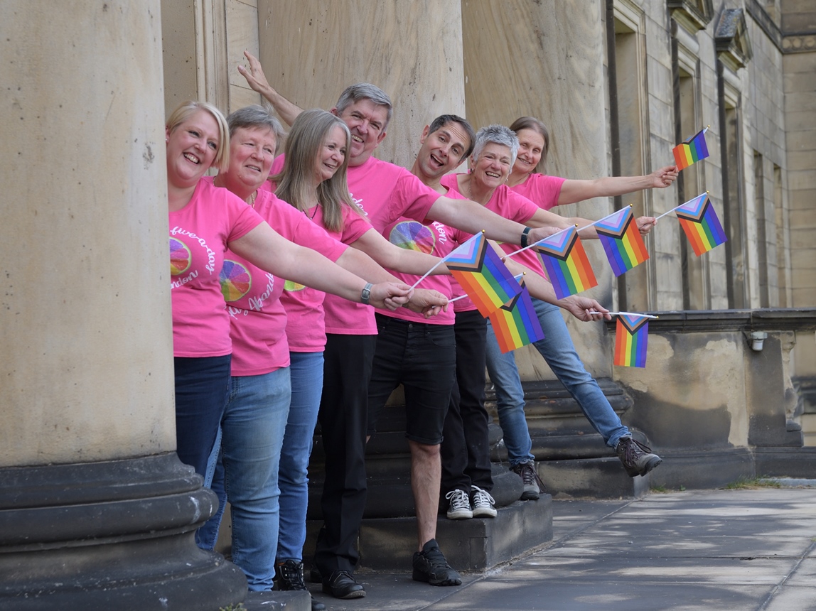
POLYGON ((360 571, 342 611, 816 611, 816 481, 556 501, 548 546, 460 587, 360 571))

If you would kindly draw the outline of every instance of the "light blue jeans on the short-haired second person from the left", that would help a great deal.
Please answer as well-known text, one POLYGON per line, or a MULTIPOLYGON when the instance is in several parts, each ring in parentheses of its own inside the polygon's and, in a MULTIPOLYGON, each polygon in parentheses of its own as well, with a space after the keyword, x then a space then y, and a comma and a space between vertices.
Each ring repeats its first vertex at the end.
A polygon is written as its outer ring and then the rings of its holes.
POLYGON ((212 481, 220 509, 196 534, 199 547, 215 547, 228 501, 233 563, 246 574, 250 591, 273 587, 280 495, 277 469, 290 395, 288 367, 263 375, 233 376, 212 481))

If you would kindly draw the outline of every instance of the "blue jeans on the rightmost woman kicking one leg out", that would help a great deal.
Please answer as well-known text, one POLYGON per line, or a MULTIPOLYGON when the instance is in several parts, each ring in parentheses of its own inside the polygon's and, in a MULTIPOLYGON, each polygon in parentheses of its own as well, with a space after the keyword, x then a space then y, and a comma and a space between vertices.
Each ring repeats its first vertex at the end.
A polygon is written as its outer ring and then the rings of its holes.
MULTIPOLYGON (((544 339, 533 345, 550 366, 553 374, 564 384, 570 395, 583 411, 592 427, 604 438, 606 445, 614 448, 621 437, 629 435, 618 414, 604 396, 592 375, 583 368, 575 352, 570 332, 561 317, 560 308, 533 299, 535 313, 539 317, 544 339)), ((510 464, 515 466, 534 460, 530 431, 524 414, 524 390, 512 352, 502 354, 490 322, 487 325, 487 373, 496 388, 496 407, 499 425, 504 433, 504 445, 508 449, 510 464)))

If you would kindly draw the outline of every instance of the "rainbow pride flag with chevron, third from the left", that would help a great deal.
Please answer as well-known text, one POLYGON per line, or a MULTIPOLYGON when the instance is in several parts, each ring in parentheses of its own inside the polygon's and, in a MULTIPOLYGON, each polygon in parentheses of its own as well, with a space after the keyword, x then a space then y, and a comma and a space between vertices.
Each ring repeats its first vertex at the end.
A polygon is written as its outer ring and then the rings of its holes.
POLYGON ((574 227, 537 242, 534 250, 541 255, 558 299, 598 285, 589 265, 587 251, 583 250, 581 238, 574 227))

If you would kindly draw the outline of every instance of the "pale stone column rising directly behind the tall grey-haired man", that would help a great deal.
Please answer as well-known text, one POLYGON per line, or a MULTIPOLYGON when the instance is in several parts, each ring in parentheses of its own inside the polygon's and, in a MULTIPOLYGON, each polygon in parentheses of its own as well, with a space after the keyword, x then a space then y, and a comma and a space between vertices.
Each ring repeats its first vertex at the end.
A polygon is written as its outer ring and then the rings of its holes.
POLYGON ((260 60, 300 108, 329 110, 355 82, 379 86, 394 114, 375 156, 410 167, 424 126, 464 115, 461 15, 459 0, 258 0, 260 60))

